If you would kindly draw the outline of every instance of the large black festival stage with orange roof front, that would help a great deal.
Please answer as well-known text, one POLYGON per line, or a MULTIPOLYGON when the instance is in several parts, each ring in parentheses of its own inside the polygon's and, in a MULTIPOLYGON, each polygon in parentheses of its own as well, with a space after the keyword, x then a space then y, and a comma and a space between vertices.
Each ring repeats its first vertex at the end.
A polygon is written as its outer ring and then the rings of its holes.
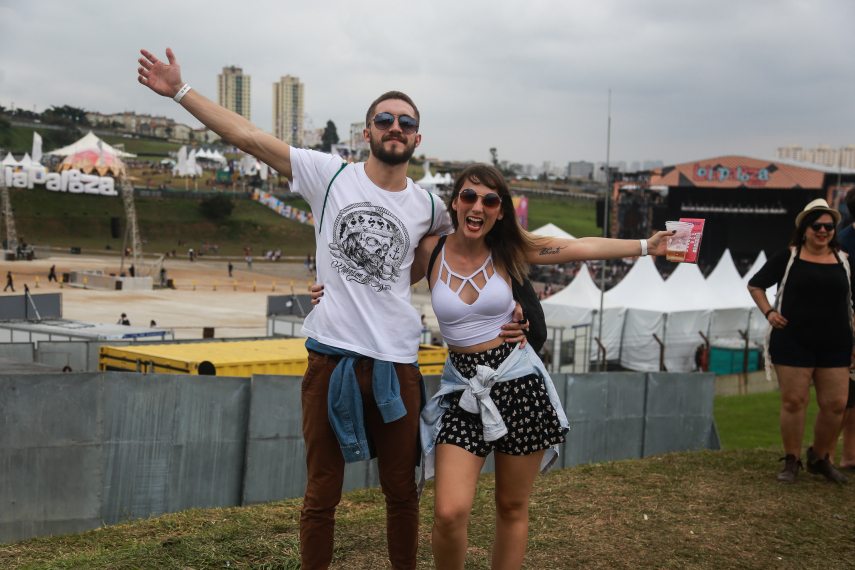
POLYGON ((825 198, 837 204, 855 170, 721 156, 629 173, 613 186, 611 235, 649 237, 666 220, 703 218, 699 263, 710 267, 730 250, 740 267, 761 251, 786 247, 796 215, 825 198))

